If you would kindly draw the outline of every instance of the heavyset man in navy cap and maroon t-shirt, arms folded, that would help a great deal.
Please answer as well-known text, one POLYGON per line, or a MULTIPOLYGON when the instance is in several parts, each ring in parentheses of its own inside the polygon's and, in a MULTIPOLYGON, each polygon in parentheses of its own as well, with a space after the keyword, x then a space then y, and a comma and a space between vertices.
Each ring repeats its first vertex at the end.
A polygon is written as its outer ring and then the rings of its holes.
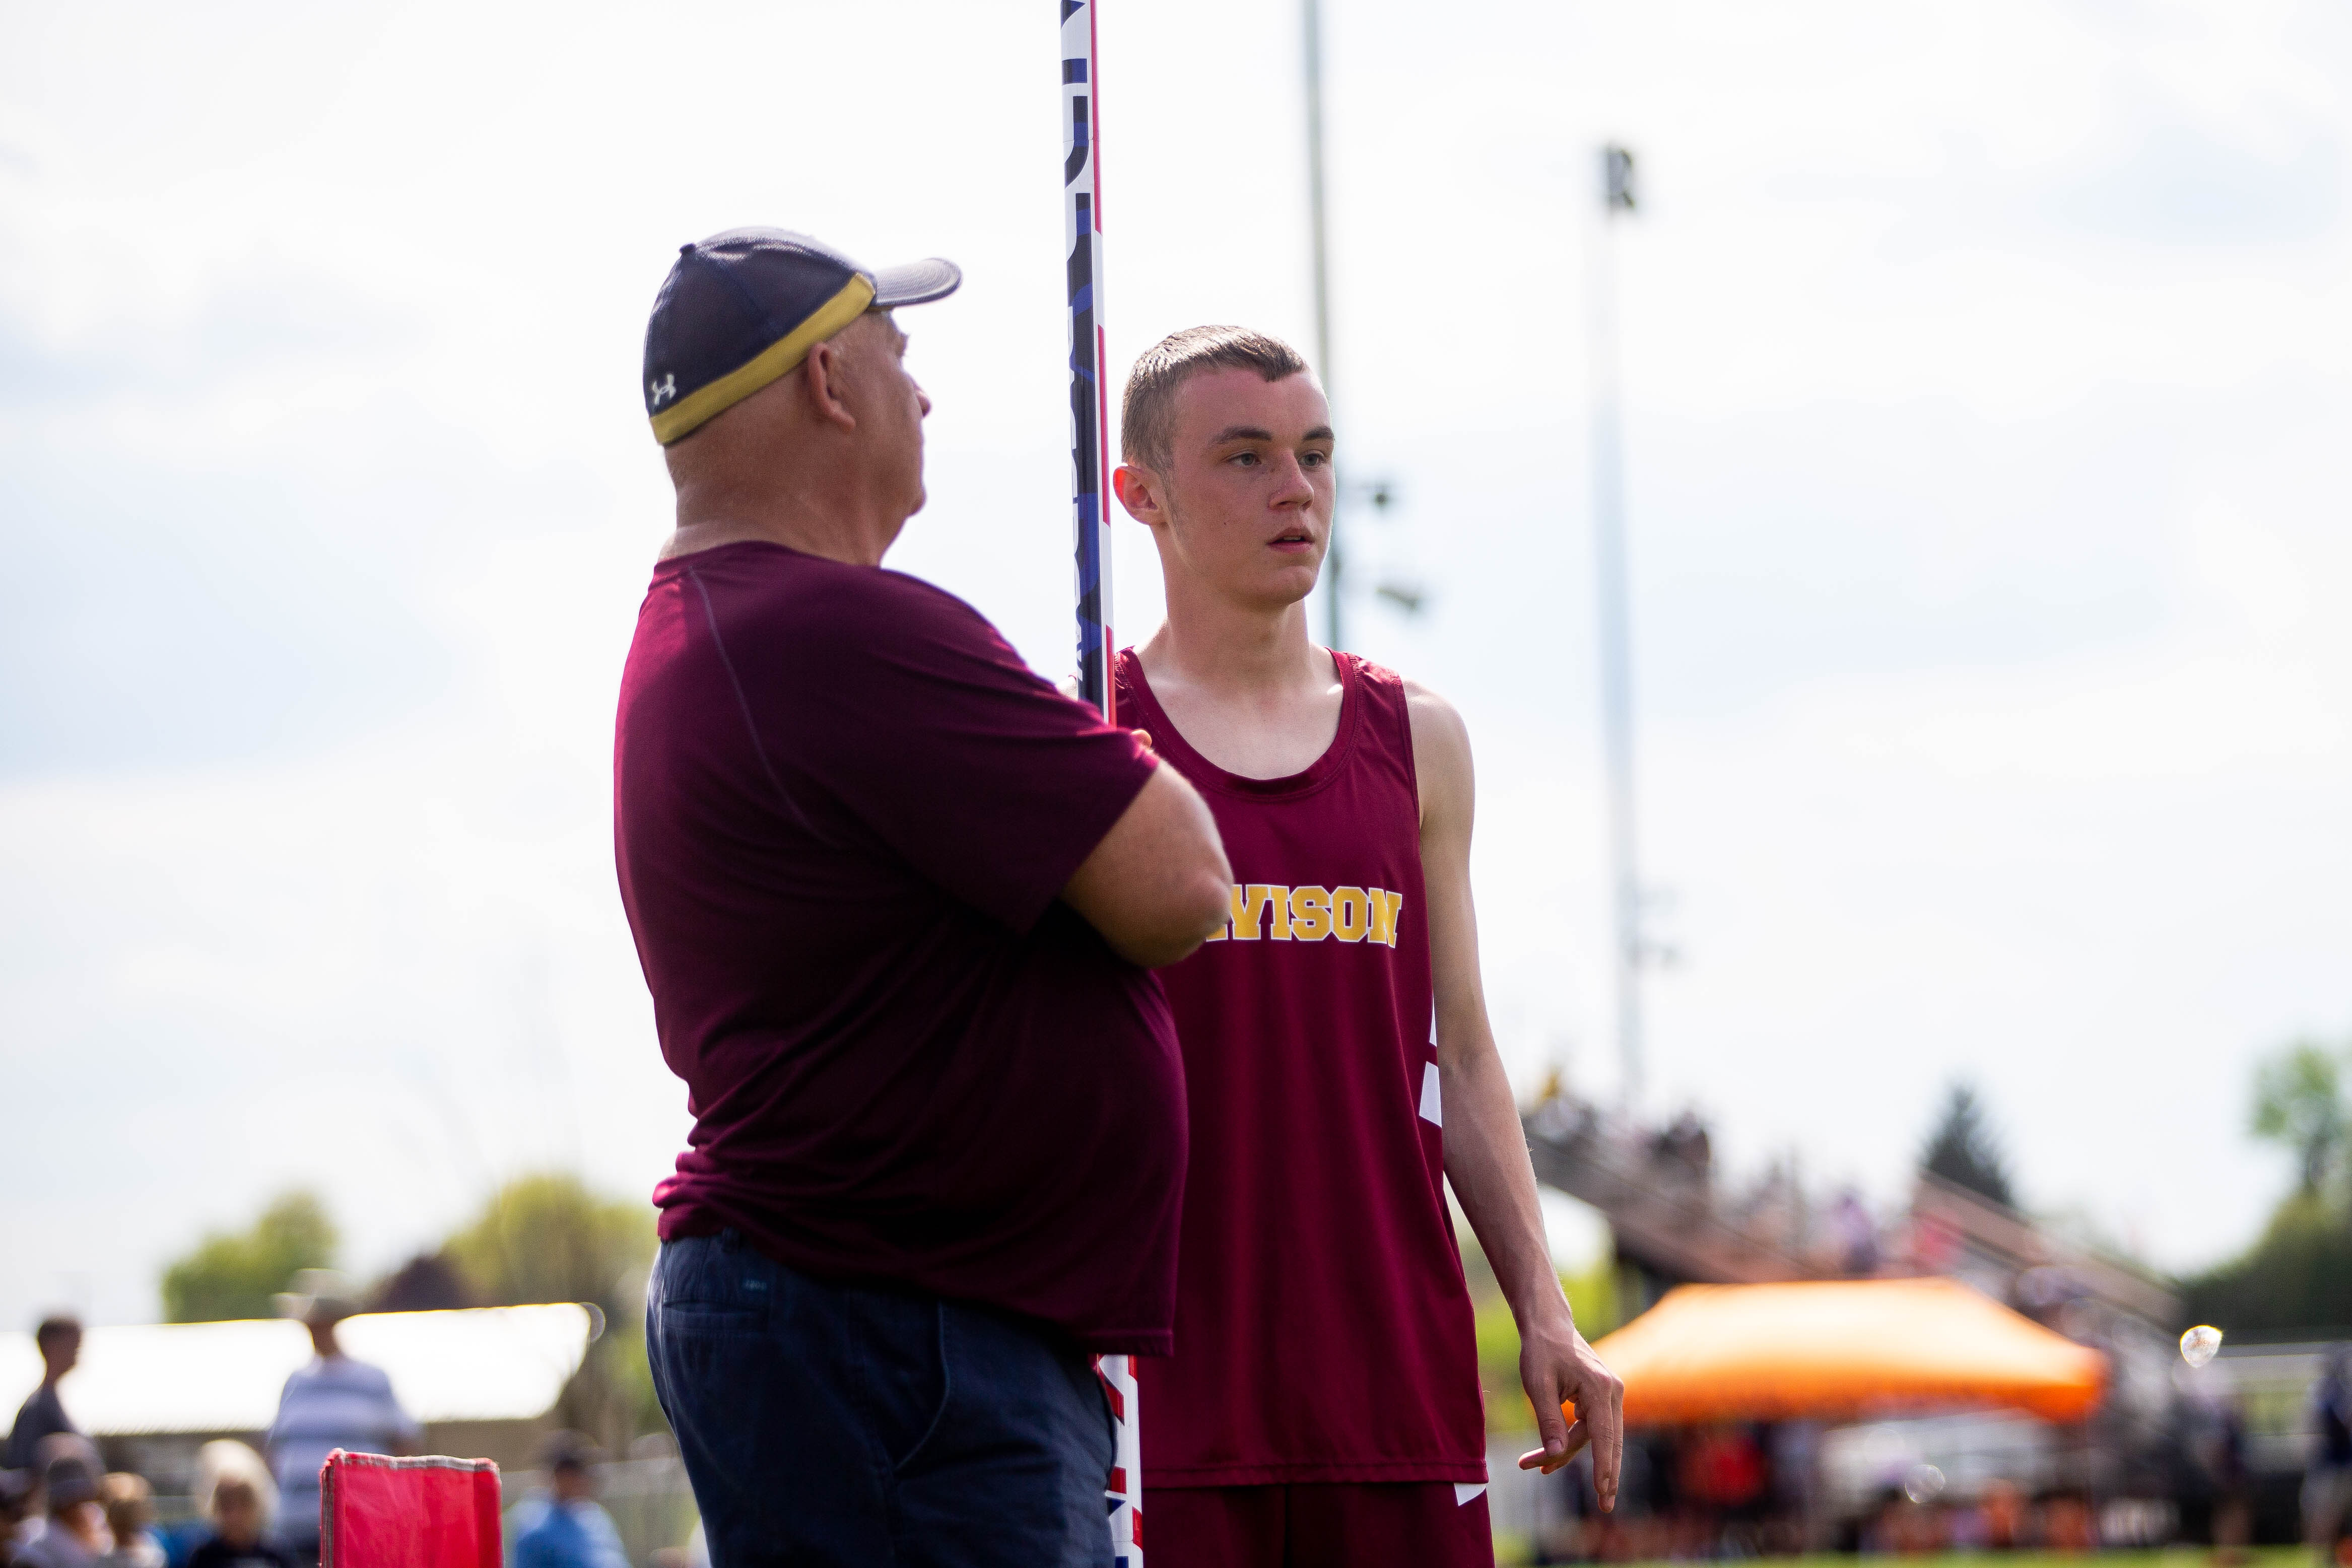
POLYGON ((729 230, 647 327, 677 531, 614 839, 694 1112, 647 1338, 720 1568, 1108 1568, 1087 1352, 1171 1338, 1148 966, 1218 929, 1230 870, 1176 771, 880 564, 929 414, 889 308, 957 277, 729 230))

